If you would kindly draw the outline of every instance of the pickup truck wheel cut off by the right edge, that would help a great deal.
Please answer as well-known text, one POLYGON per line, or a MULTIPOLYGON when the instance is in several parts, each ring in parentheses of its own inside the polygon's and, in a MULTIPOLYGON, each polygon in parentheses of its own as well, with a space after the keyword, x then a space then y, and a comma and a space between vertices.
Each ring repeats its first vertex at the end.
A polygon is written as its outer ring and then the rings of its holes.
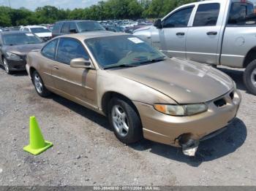
POLYGON ((256 60, 249 63, 244 71, 244 84, 249 93, 256 95, 256 60))

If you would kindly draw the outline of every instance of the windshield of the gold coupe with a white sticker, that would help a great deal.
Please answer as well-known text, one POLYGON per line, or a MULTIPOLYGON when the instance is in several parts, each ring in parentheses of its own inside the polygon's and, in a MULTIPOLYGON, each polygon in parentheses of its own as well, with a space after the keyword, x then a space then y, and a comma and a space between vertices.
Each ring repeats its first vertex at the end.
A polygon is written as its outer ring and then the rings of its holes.
POLYGON ((85 40, 103 69, 141 66, 165 59, 165 55, 135 36, 106 36, 85 40))

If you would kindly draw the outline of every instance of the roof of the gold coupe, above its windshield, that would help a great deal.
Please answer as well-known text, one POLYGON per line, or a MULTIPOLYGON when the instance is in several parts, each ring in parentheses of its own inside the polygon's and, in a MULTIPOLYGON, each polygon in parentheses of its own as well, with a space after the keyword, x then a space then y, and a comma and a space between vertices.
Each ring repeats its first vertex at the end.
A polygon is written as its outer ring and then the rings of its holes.
POLYGON ((106 37, 106 36, 125 36, 125 35, 131 35, 131 34, 124 34, 124 33, 115 33, 111 31, 89 31, 86 33, 80 33, 80 34, 67 34, 63 36, 58 36, 59 38, 61 37, 69 37, 69 38, 75 38, 79 39, 81 41, 85 39, 94 39, 98 37, 106 37))

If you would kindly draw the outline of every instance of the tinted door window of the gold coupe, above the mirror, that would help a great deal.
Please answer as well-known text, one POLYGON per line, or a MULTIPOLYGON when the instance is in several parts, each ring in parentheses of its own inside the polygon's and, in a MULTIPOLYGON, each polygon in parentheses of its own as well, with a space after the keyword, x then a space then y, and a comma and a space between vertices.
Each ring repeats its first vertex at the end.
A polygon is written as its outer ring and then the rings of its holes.
POLYGON ((89 55, 83 45, 75 39, 61 38, 57 51, 57 61, 70 64, 74 58, 85 58, 89 60, 89 55))

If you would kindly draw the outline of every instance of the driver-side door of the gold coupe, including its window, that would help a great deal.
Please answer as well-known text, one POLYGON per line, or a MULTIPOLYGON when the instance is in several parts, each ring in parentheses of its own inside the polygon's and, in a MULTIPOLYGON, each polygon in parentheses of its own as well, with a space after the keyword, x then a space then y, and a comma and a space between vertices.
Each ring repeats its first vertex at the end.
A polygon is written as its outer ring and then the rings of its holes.
POLYGON ((56 52, 57 62, 53 65, 52 72, 54 86, 64 97, 96 106, 96 70, 71 68, 70 61, 74 58, 89 60, 83 44, 77 39, 60 38, 56 52))

